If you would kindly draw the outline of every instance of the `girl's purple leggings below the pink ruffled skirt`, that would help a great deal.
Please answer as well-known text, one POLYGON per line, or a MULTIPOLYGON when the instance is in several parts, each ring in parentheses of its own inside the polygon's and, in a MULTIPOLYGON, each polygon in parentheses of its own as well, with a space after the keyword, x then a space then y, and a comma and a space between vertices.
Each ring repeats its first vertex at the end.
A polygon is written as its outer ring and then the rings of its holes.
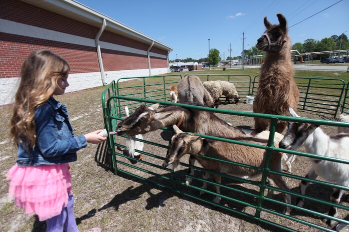
POLYGON ((68 198, 68 205, 62 209, 60 215, 46 220, 46 232, 79 232, 76 226, 74 210, 72 205, 74 198, 72 195, 68 198))

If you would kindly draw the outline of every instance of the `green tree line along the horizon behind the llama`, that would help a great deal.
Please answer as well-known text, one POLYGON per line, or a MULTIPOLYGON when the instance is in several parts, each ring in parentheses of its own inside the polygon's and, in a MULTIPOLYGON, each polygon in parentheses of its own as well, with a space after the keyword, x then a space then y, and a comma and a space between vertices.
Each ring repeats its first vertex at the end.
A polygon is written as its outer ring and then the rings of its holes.
MULTIPOLYGON (((335 51, 335 50, 345 50, 349 49, 349 41, 348 37, 342 33, 340 35, 332 35, 329 38, 323 38, 321 40, 316 39, 305 39, 303 43, 297 42, 292 45, 292 50, 297 50, 299 53, 305 53, 305 52, 319 52, 319 51, 335 51)), ((185 59, 174 59, 169 60, 169 62, 198 62, 198 63, 209 63, 210 65, 215 65, 219 62, 220 52, 216 48, 211 48, 209 50, 209 60, 208 60, 208 54, 207 57, 199 58, 199 59, 192 59, 190 57, 185 59)), ((264 51, 258 50, 255 46, 251 47, 250 49, 243 50, 243 53, 241 52, 241 55, 234 56, 234 57, 226 57, 225 60, 234 60, 234 59, 241 59, 242 55, 244 54, 244 58, 251 58, 255 55, 264 55, 264 51)), ((316 59, 320 55, 313 55, 313 58, 316 59)), ((324 55, 322 55, 324 57, 324 55)))

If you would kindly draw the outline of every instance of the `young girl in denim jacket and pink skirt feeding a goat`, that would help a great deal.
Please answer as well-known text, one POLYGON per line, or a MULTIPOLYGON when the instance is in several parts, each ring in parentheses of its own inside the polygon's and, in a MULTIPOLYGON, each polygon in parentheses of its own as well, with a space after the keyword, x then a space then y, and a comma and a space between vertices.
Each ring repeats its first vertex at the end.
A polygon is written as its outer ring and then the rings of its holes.
POLYGON ((76 161, 76 152, 87 143, 106 139, 97 135, 101 130, 74 136, 66 105, 53 98, 69 86, 69 69, 50 51, 29 54, 22 65, 11 119, 10 136, 18 159, 6 174, 8 192, 26 214, 46 220, 46 232, 78 232, 68 162, 76 161))

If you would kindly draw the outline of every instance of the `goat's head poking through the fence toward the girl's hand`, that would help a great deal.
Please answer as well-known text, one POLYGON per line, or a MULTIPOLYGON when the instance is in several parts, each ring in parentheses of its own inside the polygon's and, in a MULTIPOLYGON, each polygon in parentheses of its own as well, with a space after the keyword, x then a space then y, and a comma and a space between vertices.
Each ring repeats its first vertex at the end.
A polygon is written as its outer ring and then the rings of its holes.
POLYGON ((171 113, 156 113, 155 110, 158 106, 158 103, 149 107, 146 107, 143 104, 138 106, 133 114, 117 124, 115 132, 118 135, 132 136, 145 134, 149 131, 159 129, 153 128, 152 125, 155 122, 168 117, 171 113))

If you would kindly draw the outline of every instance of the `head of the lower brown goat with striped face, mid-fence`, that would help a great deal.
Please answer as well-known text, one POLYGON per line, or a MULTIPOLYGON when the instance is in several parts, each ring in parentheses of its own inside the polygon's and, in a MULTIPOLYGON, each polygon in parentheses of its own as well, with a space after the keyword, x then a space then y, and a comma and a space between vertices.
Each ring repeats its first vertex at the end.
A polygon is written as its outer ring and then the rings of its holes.
POLYGON ((171 148, 163 161, 162 167, 165 168, 172 164, 173 171, 176 171, 181 157, 185 154, 196 155, 199 152, 193 151, 196 149, 192 149, 192 144, 201 137, 184 133, 176 125, 173 125, 173 129, 176 134, 171 139, 171 148))

